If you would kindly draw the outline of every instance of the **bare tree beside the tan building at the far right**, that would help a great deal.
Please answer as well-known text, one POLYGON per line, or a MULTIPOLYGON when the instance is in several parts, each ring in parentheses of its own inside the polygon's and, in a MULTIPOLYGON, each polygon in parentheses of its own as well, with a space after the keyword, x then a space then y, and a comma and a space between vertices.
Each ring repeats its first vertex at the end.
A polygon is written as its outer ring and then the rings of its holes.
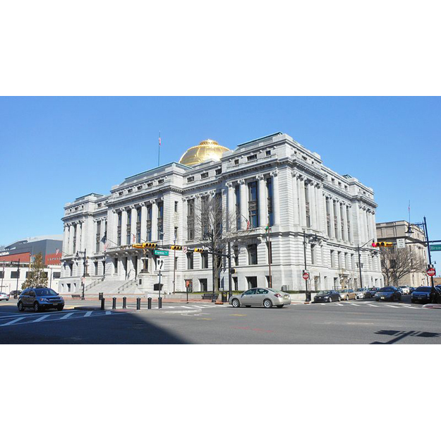
POLYGON ((399 281, 413 272, 424 272, 425 262, 410 246, 402 249, 383 248, 381 251, 382 273, 386 283, 399 285, 399 281))

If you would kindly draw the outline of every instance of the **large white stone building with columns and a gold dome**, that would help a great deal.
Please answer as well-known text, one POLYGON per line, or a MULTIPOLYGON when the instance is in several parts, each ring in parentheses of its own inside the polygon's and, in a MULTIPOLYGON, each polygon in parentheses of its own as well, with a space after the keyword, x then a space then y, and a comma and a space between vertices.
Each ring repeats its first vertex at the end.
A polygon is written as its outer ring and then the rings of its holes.
MULTIPOLYGON (((81 291, 85 275, 88 292, 152 293, 157 258, 131 245, 200 245, 193 228, 204 198, 222 198, 225 212, 237 215, 236 225, 224 228, 246 231, 246 244, 234 247, 234 290, 268 286, 268 223, 274 287, 305 290, 305 249, 313 291, 383 286, 380 257, 370 246, 376 239, 373 189, 327 168, 320 155, 289 135, 274 133, 234 151, 204 141, 179 163, 131 176, 108 195, 91 193, 68 203, 61 292, 81 291)), ((185 291, 186 281, 195 292, 212 289, 210 255, 177 251, 176 267, 174 257, 171 251, 164 258, 165 292, 185 291)), ((225 267, 220 284, 228 290, 225 267)))

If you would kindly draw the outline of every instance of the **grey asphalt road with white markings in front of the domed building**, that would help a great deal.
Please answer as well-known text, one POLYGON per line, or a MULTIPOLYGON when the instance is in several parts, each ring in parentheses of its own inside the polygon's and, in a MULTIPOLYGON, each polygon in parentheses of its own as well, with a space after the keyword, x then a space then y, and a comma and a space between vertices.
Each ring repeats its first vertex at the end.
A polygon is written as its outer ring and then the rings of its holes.
MULTIPOLYGON (((97 303, 86 302, 87 306, 97 303)), ((164 303, 162 310, 18 313, 0 303, 0 344, 440 344, 441 309, 349 301, 284 309, 164 303)), ((145 308, 145 306, 143 306, 145 308)), ((154 304, 154 308, 156 305, 154 304)))

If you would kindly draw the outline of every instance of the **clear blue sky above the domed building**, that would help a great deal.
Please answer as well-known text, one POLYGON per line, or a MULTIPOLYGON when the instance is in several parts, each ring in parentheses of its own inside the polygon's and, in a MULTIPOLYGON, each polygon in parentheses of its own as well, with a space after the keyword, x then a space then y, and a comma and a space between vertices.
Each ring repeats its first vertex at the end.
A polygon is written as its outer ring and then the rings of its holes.
POLYGON ((2 96, 0 245, 62 234, 65 203, 156 167, 159 130, 162 163, 207 138, 288 133, 373 187, 377 222, 408 219, 411 200, 441 240, 440 111, 439 96, 2 96))

